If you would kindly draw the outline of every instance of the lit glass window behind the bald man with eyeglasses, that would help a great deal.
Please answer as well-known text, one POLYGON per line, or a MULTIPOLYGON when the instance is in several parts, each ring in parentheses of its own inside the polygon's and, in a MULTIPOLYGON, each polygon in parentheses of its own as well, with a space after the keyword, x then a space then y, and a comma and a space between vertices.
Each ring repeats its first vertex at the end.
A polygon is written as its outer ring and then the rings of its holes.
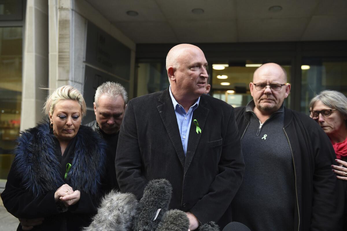
MULTIPOLYGON (((229 65, 230 63, 213 64, 212 96, 233 107, 247 105, 253 99, 249 90, 249 83, 253 81, 253 73, 261 63, 247 60, 242 66, 240 64, 237 66, 229 65), (218 64, 222 65, 219 66, 218 64)), ((291 66, 282 65, 282 67, 287 71, 287 82, 290 83, 291 66)), ((284 105, 290 106, 290 94, 285 99, 284 105)))

